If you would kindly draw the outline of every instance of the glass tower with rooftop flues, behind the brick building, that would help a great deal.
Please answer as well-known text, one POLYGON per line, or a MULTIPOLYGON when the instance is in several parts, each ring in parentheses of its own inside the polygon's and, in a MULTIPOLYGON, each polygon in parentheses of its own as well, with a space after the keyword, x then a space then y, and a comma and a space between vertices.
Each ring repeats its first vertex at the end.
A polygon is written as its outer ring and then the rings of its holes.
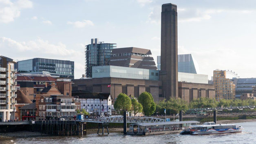
POLYGON ((99 65, 108 65, 110 54, 117 44, 104 43, 99 39, 91 39, 91 44, 85 46, 85 74, 86 77, 92 77, 92 67, 99 65))

